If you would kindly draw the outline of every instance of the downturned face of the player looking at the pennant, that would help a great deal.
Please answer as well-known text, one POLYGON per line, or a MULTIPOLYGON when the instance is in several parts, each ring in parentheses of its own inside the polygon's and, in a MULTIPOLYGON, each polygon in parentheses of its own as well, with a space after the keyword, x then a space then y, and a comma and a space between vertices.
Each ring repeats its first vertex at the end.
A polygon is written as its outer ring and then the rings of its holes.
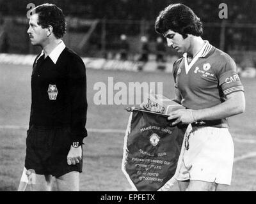
POLYGON ((172 47, 180 54, 187 52, 189 46, 188 38, 184 39, 181 34, 171 29, 166 31, 163 36, 166 38, 168 47, 172 47))

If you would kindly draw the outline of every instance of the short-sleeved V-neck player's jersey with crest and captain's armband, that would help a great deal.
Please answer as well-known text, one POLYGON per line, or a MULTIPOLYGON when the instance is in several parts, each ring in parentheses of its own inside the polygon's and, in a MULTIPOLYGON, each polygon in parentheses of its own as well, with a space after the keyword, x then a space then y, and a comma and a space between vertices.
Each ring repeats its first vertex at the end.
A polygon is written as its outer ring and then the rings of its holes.
MULTIPOLYGON (((228 94, 244 91, 234 60, 205 42, 190 64, 186 53, 173 64, 175 88, 180 91, 181 103, 193 110, 219 105, 228 94)), ((227 119, 220 119, 212 126, 228 128, 227 119)))

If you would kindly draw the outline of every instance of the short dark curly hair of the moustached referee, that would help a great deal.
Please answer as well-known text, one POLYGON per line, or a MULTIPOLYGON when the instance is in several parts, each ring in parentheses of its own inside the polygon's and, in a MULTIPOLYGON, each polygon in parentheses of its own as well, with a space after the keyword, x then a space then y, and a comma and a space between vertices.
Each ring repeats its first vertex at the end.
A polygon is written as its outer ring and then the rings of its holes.
POLYGON ((42 4, 34 8, 38 13, 38 25, 46 28, 52 26, 52 32, 56 38, 61 38, 66 33, 66 21, 63 11, 54 4, 42 4))

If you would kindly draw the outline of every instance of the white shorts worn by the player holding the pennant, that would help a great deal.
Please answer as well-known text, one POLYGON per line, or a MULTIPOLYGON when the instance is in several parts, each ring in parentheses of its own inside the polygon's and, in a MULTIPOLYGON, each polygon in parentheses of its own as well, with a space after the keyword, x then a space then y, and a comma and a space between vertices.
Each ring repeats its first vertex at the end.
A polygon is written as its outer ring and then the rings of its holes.
POLYGON ((188 145, 187 150, 184 138, 176 170, 177 180, 230 185, 234 143, 228 128, 194 127, 188 145))

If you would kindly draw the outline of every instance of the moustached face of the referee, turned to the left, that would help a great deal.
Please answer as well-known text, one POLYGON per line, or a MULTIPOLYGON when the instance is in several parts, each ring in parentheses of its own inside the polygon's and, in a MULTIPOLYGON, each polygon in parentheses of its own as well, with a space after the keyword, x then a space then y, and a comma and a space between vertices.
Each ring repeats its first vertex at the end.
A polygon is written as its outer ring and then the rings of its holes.
POLYGON ((47 28, 42 28, 41 25, 38 25, 37 13, 30 17, 28 34, 32 45, 40 45, 44 47, 47 42, 47 28))

